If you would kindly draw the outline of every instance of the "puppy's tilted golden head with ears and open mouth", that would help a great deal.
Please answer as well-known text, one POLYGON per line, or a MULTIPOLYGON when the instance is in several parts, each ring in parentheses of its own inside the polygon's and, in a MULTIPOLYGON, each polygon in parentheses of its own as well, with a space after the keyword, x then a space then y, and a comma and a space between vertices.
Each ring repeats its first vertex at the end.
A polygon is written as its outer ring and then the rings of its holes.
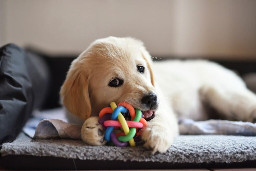
POLYGON ((122 101, 152 118, 158 101, 151 62, 141 41, 98 39, 72 62, 60 91, 62 103, 84 120, 110 102, 122 101))

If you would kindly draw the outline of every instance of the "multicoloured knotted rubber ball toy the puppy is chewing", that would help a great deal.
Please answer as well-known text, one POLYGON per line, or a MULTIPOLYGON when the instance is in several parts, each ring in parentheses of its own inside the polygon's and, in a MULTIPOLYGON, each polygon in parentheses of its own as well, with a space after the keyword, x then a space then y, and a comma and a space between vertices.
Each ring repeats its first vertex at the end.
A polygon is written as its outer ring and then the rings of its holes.
POLYGON ((111 102, 110 106, 103 108, 99 114, 99 123, 105 130, 104 139, 109 143, 112 142, 115 146, 123 147, 130 144, 134 147, 135 142, 141 141, 139 129, 147 125, 147 121, 142 118, 141 110, 134 109, 126 102, 121 102, 118 105, 111 102), (129 112, 131 121, 126 121, 121 112, 129 112), (109 120, 110 118, 111 120, 109 120), (121 129, 122 132, 115 134, 114 129, 121 129))

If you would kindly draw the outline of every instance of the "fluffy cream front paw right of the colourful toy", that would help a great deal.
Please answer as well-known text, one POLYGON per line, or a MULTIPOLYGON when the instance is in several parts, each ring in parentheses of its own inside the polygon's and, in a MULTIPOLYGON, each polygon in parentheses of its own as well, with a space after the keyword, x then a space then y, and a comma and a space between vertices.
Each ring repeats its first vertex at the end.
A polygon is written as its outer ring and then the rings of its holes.
POLYGON ((143 129, 141 138, 145 141, 144 146, 152 149, 152 154, 155 152, 166 152, 173 142, 173 134, 162 125, 148 123, 143 129))

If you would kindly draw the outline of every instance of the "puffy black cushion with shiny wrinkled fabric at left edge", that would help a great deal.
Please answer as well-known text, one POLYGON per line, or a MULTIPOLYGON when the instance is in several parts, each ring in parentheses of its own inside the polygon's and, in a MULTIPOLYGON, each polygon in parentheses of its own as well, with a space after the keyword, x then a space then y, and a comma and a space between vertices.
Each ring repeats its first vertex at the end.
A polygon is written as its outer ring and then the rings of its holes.
POLYGON ((31 112, 43 104, 48 86, 42 58, 14 44, 0 48, 0 144, 17 137, 31 112))

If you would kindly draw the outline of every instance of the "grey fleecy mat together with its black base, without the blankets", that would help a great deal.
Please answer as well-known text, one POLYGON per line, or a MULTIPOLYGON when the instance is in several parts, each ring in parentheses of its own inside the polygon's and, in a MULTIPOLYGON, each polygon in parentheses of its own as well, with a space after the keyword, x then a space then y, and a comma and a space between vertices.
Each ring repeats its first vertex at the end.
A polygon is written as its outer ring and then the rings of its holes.
POLYGON ((255 167, 255 151, 253 136, 180 135, 166 153, 152 155, 142 145, 89 146, 81 140, 32 139, 20 133, 14 142, 2 145, 1 164, 11 169, 32 170, 225 167, 241 162, 255 167), (30 162, 25 165, 27 159, 30 162))

